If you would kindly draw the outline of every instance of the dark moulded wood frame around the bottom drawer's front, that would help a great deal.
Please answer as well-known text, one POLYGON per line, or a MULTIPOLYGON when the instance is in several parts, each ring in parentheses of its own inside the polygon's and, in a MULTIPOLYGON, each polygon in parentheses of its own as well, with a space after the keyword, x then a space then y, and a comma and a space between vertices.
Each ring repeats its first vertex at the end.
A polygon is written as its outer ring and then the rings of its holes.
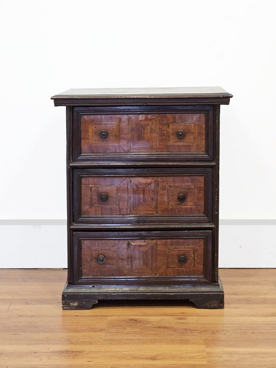
POLYGON ((74 252, 74 284, 210 284, 212 283, 212 231, 162 231, 162 232, 74 232, 73 233, 74 252), (82 239, 204 239, 204 276, 116 276, 116 277, 82 277, 81 276, 81 240, 82 239))

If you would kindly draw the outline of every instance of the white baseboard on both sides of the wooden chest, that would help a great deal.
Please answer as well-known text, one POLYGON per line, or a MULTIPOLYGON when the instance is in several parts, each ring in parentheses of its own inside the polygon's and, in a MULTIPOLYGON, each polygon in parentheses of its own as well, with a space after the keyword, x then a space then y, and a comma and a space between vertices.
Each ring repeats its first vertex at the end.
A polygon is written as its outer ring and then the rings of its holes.
MULTIPOLYGON (((0 268, 67 267, 65 220, 33 221, 1 221, 0 268)), ((219 267, 276 268, 275 232, 275 220, 221 220, 219 267)))

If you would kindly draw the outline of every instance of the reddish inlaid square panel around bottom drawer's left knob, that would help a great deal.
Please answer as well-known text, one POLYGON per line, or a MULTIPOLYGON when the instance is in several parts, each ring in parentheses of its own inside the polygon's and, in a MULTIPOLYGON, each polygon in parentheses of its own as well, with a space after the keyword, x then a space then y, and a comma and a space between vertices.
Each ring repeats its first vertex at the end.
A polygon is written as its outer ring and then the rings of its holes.
POLYGON ((79 243, 82 277, 127 275, 127 241, 80 239, 79 243), (104 263, 98 262, 99 256, 104 256, 104 263))

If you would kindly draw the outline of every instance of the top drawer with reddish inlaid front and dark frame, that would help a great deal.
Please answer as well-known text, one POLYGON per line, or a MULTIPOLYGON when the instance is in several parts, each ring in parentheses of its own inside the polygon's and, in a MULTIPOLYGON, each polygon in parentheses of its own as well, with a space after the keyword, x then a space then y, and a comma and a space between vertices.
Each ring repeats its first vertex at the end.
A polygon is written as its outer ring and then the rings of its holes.
POLYGON ((76 107, 73 160, 212 159, 212 106, 137 109, 76 107))

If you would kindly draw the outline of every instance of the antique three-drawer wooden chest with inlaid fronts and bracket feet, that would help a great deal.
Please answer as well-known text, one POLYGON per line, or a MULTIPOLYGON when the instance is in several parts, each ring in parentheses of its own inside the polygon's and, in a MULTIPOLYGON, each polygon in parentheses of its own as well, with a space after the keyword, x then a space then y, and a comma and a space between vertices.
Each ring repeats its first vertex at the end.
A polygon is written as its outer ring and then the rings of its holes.
POLYGON ((63 309, 188 299, 223 308, 218 276, 220 87, 70 89, 63 309))

